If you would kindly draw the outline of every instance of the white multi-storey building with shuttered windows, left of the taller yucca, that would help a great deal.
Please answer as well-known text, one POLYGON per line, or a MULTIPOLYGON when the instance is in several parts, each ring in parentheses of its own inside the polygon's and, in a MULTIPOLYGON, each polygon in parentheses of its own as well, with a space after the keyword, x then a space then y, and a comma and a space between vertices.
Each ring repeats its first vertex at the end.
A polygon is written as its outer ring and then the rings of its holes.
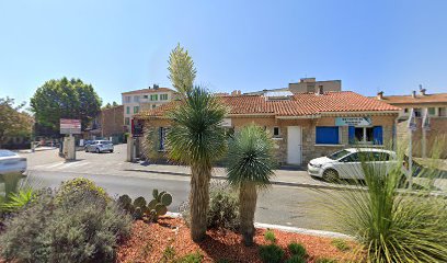
POLYGON ((176 98, 176 92, 169 88, 160 88, 158 84, 148 89, 135 90, 122 93, 124 106, 124 127, 130 130, 131 119, 140 111, 156 108, 176 98))

